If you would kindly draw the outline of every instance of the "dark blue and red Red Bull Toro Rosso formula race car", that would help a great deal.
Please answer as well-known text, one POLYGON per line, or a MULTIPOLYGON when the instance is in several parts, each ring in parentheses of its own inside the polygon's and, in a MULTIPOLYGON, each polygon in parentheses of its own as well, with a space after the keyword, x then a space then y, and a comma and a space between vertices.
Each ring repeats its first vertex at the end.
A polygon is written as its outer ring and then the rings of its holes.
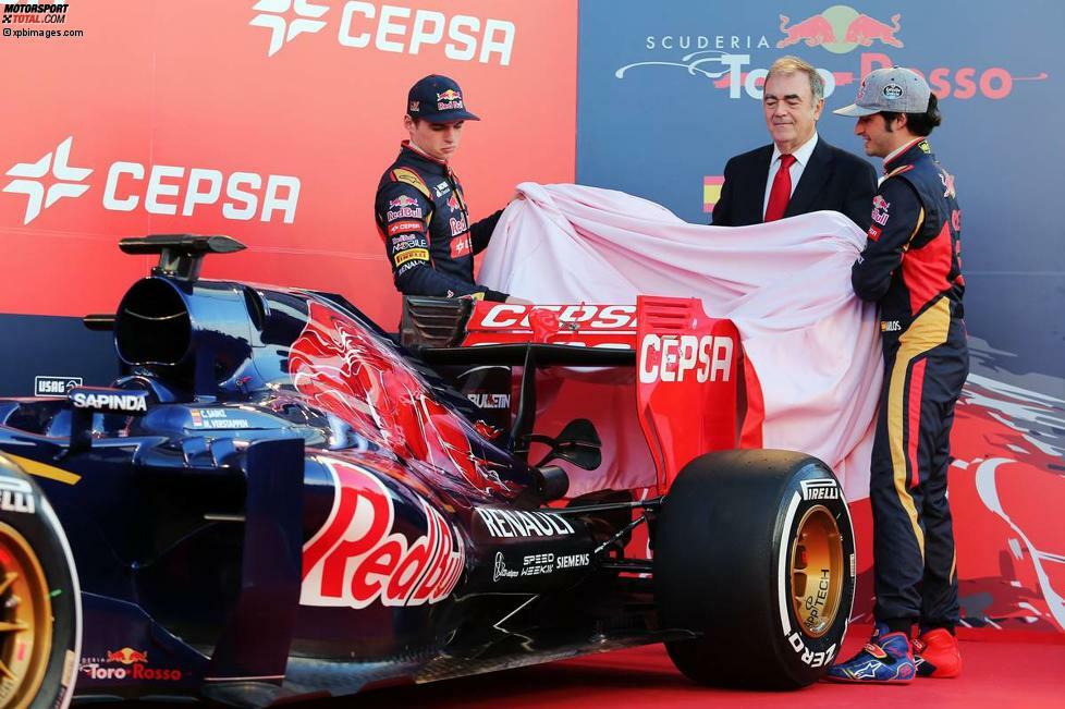
POLYGON ((0 707, 265 706, 649 643, 792 688, 838 651, 846 500, 817 459, 736 450, 743 349, 699 302, 411 298, 395 338, 336 295, 200 280, 224 236, 121 247, 160 256, 85 318, 122 376, 0 401, 0 707), (600 439, 534 432, 544 367, 636 368, 649 494, 566 497, 600 439))

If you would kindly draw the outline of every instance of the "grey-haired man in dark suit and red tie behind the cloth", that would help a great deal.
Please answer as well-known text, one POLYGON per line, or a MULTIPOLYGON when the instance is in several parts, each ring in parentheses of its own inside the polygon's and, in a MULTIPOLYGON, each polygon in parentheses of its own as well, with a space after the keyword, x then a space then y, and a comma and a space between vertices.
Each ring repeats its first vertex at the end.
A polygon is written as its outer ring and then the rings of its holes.
POLYGON ((833 209, 869 229, 877 172, 858 156, 817 134, 824 108, 824 81, 797 57, 773 62, 762 108, 773 138, 729 160, 713 225, 746 227, 833 209))

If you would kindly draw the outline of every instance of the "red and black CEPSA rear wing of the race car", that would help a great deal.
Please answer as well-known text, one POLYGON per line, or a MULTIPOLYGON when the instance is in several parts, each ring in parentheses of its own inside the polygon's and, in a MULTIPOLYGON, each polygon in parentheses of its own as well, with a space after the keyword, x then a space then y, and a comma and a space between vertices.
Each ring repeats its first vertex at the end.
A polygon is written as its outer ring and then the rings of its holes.
POLYGON ((407 298, 401 341, 427 364, 525 367, 512 442, 532 429, 538 367, 636 367, 640 428, 664 493, 688 461, 739 445, 746 413, 736 326, 696 298, 516 305, 407 298))

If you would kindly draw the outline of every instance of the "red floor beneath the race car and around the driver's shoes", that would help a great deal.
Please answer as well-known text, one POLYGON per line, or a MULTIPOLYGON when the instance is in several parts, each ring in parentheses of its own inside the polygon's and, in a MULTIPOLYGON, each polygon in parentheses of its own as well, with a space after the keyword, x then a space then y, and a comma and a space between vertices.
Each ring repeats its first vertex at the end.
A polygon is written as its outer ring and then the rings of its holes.
MULTIPOLYGON (((344 707, 809 707, 885 706, 899 702, 935 709, 1065 707, 1065 639, 1043 634, 980 632, 962 636, 963 675, 955 680, 915 680, 904 686, 820 683, 787 693, 732 692, 699 687, 674 670, 661 645, 407 687, 368 692, 357 702, 327 699, 307 709, 344 707)), ((869 628, 848 633, 844 655, 858 650, 869 628)))

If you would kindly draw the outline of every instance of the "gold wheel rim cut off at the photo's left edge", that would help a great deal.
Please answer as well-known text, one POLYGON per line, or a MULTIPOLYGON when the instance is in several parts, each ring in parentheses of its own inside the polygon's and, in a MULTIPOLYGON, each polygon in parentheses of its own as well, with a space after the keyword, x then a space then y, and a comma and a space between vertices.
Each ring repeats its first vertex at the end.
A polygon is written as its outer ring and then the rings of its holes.
POLYGON ((51 644, 45 570, 26 538, 0 522, 0 707, 29 706, 45 680, 51 644))

